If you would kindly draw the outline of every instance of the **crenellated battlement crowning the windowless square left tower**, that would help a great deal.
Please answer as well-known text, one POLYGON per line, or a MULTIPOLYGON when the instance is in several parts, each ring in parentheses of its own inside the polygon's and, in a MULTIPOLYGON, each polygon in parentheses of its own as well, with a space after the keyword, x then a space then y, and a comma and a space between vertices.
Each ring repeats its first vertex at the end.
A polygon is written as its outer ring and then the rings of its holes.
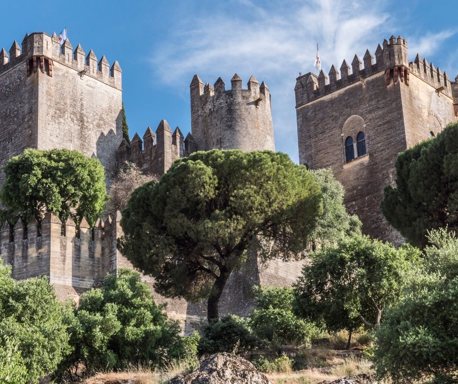
POLYGON ((90 50, 85 57, 85 52, 80 44, 73 50, 69 39, 60 48, 56 33, 52 36, 44 32, 25 34, 21 46, 14 40, 9 53, 4 48, 0 51, 0 77, 19 64, 26 64, 27 77, 40 71, 48 76, 53 76, 53 66, 56 63, 74 69, 77 74, 93 77, 117 89, 122 88, 121 67, 115 62, 110 67, 108 60, 102 56, 97 63, 95 53, 90 50))

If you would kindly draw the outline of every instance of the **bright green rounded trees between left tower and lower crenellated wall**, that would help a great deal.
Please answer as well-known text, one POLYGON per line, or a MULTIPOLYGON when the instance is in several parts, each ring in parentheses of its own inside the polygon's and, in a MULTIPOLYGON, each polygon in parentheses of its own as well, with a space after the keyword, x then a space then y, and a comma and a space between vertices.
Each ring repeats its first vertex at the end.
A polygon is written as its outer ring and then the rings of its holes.
POLYGON ((40 220, 54 211, 63 222, 70 215, 76 223, 86 217, 94 224, 105 208, 104 169, 98 159, 78 151, 26 149, 8 160, 3 171, 0 200, 9 220, 40 220))

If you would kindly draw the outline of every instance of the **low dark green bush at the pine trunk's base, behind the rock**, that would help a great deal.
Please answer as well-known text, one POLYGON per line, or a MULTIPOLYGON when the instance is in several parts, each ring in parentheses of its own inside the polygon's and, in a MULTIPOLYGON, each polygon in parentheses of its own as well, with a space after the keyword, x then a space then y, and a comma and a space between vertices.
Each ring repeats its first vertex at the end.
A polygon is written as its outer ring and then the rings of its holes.
POLYGON ((203 326, 199 353, 245 352, 257 347, 258 341, 246 318, 227 315, 203 326))

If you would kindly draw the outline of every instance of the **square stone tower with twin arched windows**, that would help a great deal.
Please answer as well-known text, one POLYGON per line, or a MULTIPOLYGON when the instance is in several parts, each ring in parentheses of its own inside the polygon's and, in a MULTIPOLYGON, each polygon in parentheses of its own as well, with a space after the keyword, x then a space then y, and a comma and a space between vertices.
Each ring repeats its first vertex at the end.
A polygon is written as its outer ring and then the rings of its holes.
POLYGON ((345 204, 363 222, 363 232, 400 243, 385 221, 383 187, 394 184, 397 154, 436 135, 458 119, 458 77, 417 55, 408 61, 407 41, 392 36, 356 55, 352 71, 344 60, 328 77, 297 78, 299 160, 312 169, 330 167, 344 185, 345 204))

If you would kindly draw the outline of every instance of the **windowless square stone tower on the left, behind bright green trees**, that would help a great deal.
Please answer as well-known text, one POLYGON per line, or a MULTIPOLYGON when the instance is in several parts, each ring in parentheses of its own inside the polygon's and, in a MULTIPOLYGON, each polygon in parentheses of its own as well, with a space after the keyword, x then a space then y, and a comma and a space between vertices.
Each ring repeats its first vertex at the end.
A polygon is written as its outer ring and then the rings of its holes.
MULTIPOLYGON (((75 149, 115 173, 121 129, 121 68, 54 34, 26 34, 0 51, 0 165, 26 148, 75 149)), ((1 176, 1 179, 3 176, 1 176)))

